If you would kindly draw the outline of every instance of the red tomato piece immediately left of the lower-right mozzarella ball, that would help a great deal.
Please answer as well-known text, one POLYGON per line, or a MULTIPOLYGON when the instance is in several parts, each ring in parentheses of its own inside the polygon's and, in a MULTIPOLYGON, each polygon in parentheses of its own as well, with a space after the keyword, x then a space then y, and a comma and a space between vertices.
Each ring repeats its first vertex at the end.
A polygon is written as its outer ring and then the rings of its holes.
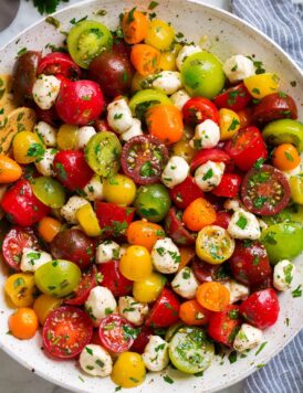
POLYGON ((217 342, 231 347, 241 326, 239 306, 229 306, 220 312, 212 312, 208 326, 208 334, 217 342))

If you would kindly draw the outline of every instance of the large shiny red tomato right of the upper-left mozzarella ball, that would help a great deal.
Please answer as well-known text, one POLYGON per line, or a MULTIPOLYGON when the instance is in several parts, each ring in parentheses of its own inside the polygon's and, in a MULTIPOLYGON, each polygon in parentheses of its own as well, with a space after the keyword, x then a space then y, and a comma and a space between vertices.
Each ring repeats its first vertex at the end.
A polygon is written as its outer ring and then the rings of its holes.
POLYGON ((62 83, 55 108, 62 121, 85 126, 97 119, 104 109, 102 91, 92 81, 62 83))

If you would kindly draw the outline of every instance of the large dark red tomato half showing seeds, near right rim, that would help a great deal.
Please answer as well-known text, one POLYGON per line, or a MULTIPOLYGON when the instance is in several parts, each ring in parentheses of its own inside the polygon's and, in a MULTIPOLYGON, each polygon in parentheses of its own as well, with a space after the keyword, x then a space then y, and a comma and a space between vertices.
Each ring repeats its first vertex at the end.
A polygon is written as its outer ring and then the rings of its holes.
POLYGON ((288 179, 271 166, 252 168, 244 177, 241 198, 254 214, 273 215, 286 208, 291 195, 288 179))

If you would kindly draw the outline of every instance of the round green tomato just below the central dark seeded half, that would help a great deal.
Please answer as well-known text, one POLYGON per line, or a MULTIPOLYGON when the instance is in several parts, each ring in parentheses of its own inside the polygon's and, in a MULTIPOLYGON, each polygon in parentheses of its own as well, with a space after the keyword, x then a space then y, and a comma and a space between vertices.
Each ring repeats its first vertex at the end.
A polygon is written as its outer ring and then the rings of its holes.
POLYGON ((170 204, 169 193, 163 184, 142 185, 134 202, 137 214, 150 222, 161 221, 170 204))

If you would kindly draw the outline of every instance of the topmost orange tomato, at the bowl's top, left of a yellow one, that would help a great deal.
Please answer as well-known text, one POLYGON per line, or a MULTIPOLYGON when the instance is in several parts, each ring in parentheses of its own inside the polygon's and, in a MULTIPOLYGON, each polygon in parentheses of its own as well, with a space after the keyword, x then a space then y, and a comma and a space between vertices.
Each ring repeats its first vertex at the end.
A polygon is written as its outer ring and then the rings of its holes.
POLYGON ((148 32, 149 21, 146 15, 136 9, 126 12, 122 20, 124 40, 128 44, 138 44, 148 32))

